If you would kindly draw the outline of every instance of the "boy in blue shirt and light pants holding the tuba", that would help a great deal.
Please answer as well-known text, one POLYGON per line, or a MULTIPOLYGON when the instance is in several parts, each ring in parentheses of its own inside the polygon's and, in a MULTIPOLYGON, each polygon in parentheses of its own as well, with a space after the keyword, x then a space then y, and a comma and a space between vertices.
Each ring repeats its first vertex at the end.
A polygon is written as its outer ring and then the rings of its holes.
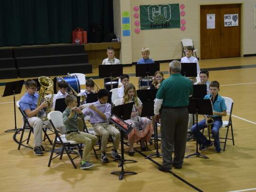
MULTIPOLYGON (((48 120, 43 121, 40 111, 48 106, 48 101, 44 101, 37 107, 37 100, 39 94, 37 91, 37 83, 33 79, 27 79, 25 83, 26 94, 21 98, 19 102, 20 108, 24 111, 25 116, 27 117, 28 123, 33 127, 34 132, 34 153, 36 155, 43 155, 41 146, 42 146, 42 129, 43 126, 51 126, 48 120), (37 117, 38 114, 38 117, 37 117)), ((52 106, 51 106, 52 107, 52 106)), ((59 128, 61 133, 65 133, 65 128, 59 128)))

